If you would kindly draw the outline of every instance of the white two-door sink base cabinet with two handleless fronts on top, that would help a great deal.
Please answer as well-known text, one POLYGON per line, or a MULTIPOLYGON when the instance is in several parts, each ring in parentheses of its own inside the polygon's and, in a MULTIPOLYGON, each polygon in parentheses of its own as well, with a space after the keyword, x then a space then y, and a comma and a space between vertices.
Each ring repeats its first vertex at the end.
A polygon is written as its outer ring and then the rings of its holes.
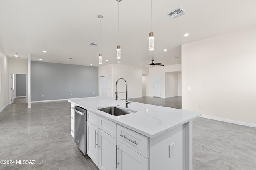
POLYGON ((116 123, 87 111, 87 154, 100 170, 116 169, 113 136, 116 137, 116 123))

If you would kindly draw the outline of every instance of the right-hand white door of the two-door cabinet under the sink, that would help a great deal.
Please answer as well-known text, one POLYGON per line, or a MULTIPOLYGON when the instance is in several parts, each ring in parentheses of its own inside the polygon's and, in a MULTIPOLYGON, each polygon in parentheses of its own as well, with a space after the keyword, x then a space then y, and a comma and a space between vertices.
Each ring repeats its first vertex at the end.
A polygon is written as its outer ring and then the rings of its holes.
POLYGON ((99 129, 99 169, 116 169, 116 139, 99 129))

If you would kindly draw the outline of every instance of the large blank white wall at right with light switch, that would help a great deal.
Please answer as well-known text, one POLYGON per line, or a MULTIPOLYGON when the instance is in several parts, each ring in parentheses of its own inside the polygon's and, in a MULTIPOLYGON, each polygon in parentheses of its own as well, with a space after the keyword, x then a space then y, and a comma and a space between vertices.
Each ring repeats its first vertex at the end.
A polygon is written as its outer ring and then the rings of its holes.
POLYGON ((182 109, 256 124, 255 103, 256 26, 182 45, 182 109))

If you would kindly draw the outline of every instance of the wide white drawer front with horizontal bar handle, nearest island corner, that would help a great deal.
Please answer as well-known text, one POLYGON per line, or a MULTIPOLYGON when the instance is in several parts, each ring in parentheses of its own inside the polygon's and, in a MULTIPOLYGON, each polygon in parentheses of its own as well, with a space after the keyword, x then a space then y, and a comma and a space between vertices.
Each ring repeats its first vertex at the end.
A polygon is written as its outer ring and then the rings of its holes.
POLYGON ((117 140, 145 158, 148 158, 148 137, 117 125, 117 140))

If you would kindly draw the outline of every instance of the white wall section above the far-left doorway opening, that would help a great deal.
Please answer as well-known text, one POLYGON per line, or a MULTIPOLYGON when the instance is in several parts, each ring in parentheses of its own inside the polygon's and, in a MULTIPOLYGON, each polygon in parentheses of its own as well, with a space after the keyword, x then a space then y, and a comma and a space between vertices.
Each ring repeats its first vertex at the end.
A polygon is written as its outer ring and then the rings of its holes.
POLYGON ((9 58, 9 73, 28 74, 28 60, 9 58))

